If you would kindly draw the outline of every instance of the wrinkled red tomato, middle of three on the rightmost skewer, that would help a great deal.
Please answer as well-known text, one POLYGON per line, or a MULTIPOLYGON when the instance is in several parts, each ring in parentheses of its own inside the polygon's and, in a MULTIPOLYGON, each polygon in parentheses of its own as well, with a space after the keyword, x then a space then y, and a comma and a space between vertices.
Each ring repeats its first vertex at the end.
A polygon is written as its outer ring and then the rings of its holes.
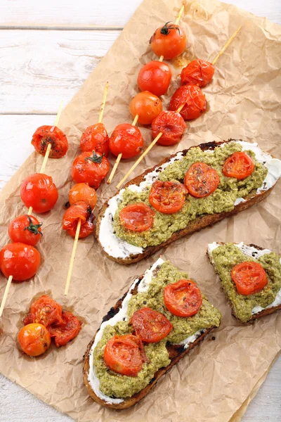
POLYGON ((206 98, 200 87, 197 85, 179 87, 171 97, 169 110, 178 110, 182 104, 185 104, 180 112, 183 119, 197 119, 206 110, 206 98))

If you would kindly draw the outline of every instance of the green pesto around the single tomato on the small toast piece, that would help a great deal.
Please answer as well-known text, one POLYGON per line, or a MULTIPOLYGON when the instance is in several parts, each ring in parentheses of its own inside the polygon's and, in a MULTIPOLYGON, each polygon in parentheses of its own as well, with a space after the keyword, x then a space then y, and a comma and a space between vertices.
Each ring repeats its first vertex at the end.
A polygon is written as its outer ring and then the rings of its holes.
POLYGON ((235 316, 242 322, 251 319, 251 311, 255 306, 263 308, 274 302, 277 293, 281 288, 281 264, 280 257, 275 252, 270 252, 258 260, 245 255, 240 248, 233 243, 220 245, 211 252, 216 271, 220 276, 223 290, 228 300, 233 304, 235 316), (259 262, 268 276, 268 284, 258 293, 253 295, 240 295, 237 293, 235 283, 231 278, 231 271, 235 265, 241 262, 259 262))

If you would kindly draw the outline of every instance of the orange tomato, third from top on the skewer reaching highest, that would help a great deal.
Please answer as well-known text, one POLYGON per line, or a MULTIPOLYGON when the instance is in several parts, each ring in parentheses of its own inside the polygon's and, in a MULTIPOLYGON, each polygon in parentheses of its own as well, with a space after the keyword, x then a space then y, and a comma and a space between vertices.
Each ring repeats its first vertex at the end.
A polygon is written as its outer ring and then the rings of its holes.
POLYGON ((133 117, 138 115, 138 123, 151 124, 162 112, 162 101, 151 92, 140 92, 133 97, 130 112, 133 117))

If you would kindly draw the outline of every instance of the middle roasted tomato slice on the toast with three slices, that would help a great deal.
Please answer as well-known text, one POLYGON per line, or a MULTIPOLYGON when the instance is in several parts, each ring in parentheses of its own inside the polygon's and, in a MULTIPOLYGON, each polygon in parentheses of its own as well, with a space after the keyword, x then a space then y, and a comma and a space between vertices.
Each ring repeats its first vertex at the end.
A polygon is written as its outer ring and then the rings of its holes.
POLYGON ((131 324, 135 333, 145 343, 157 343, 173 329, 166 316, 149 307, 143 307, 134 312, 131 324))

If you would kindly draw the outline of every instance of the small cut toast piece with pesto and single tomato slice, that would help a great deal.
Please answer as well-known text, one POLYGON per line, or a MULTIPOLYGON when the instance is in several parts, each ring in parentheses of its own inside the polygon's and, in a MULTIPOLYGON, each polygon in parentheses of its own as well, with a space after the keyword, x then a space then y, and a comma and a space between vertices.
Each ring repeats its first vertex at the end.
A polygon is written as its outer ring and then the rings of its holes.
POLYGON ((281 309, 281 258, 245 243, 209 243, 207 253, 233 315, 246 323, 281 309))

